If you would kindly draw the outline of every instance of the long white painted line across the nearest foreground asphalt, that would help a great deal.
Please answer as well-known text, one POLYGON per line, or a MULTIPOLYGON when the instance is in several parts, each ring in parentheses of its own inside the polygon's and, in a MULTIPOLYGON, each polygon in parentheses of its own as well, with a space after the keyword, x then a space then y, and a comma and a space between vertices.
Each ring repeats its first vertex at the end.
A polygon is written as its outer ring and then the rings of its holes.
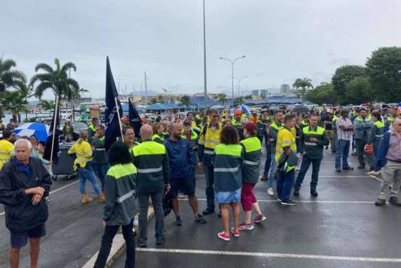
POLYGON ((269 253, 269 252, 236 252, 236 251, 217 251, 217 250, 179 250, 179 249, 159 249, 159 248, 136 248, 139 252, 159 252, 159 253, 183 253, 183 254, 207 254, 207 255, 226 255, 226 256, 246 256, 246 257, 266 257, 266 258, 292 258, 292 259, 324 259, 334 261, 351 262, 401 262, 397 258, 375 258, 375 257, 346 257, 331 255, 312 255, 312 254, 289 254, 289 253, 269 253))

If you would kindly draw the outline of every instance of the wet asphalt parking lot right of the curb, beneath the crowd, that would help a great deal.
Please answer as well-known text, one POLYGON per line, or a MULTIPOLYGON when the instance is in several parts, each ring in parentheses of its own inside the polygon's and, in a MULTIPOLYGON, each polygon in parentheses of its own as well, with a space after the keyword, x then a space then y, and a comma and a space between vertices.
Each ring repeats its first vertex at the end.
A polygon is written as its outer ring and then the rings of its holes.
MULTIPOLYGON (((353 166, 356 157, 350 156, 353 166)), ((367 170, 366 170, 367 171, 367 170)), ((401 211, 376 207, 380 181, 366 171, 336 173, 334 154, 325 152, 318 198, 309 194, 310 172, 295 206, 280 205, 259 182, 256 196, 268 218, 253 231, 230 242, 216 237, 221 220, 194 223, 187 200, 181 200, 181 227, 165 219, 166 242, 155 245, 154 221, 148 227, 148 249, 137 251, 136 267, 401 267, 401 211), (308 177, 309 176, 309 177, 308 177)), ((205 208, 204 177, 197 177, 199 210, 205 208)), ((242 218, 241 218, 242 219, 242 218)), ((125 255, 113 268, 124 267, 125 255)))

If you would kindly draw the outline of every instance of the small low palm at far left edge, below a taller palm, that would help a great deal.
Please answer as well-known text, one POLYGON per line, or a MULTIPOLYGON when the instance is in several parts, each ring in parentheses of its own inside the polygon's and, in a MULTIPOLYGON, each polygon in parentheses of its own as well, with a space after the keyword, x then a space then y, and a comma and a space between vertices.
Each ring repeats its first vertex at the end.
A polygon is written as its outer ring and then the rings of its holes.
POLYGON ((21 122, 21 112, 26 111, 27 105, 26 96, 19 90, 6 91, 1 99, 1 106, 9 110, 13 120, 18 119, 18 122, 21 122))

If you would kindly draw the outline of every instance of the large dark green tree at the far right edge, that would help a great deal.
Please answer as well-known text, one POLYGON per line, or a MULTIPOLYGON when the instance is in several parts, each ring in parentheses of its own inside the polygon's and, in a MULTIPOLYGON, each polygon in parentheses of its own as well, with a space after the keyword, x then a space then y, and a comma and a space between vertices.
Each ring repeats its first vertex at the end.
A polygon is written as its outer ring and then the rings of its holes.
POLYGON ((379 48, 366 62, 373 95, 378 101, 401 100, 401 48, 379 48))

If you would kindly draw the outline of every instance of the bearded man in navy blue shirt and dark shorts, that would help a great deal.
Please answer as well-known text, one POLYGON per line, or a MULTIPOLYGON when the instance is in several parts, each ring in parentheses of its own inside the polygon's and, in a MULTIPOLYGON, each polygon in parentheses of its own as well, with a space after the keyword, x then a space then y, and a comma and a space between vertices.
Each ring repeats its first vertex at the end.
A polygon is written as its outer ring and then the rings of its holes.
POLYGON ((177 194, 179 190, 188 195, 189 205, 194 211, 194 220, 197 223, 206 223, 202 215, 199 215, 198 200, 195 195, 194 181, 192 173, 194 172, 194 152, 192 146, 186 139, 182 139, 182 126, 172 124, 171 137, 165 141, 165 149, 170 161, 170 193, 172 195, 172 210, 175 214, 175 225, 182 225, 180 216, 180 205, 177 194))

